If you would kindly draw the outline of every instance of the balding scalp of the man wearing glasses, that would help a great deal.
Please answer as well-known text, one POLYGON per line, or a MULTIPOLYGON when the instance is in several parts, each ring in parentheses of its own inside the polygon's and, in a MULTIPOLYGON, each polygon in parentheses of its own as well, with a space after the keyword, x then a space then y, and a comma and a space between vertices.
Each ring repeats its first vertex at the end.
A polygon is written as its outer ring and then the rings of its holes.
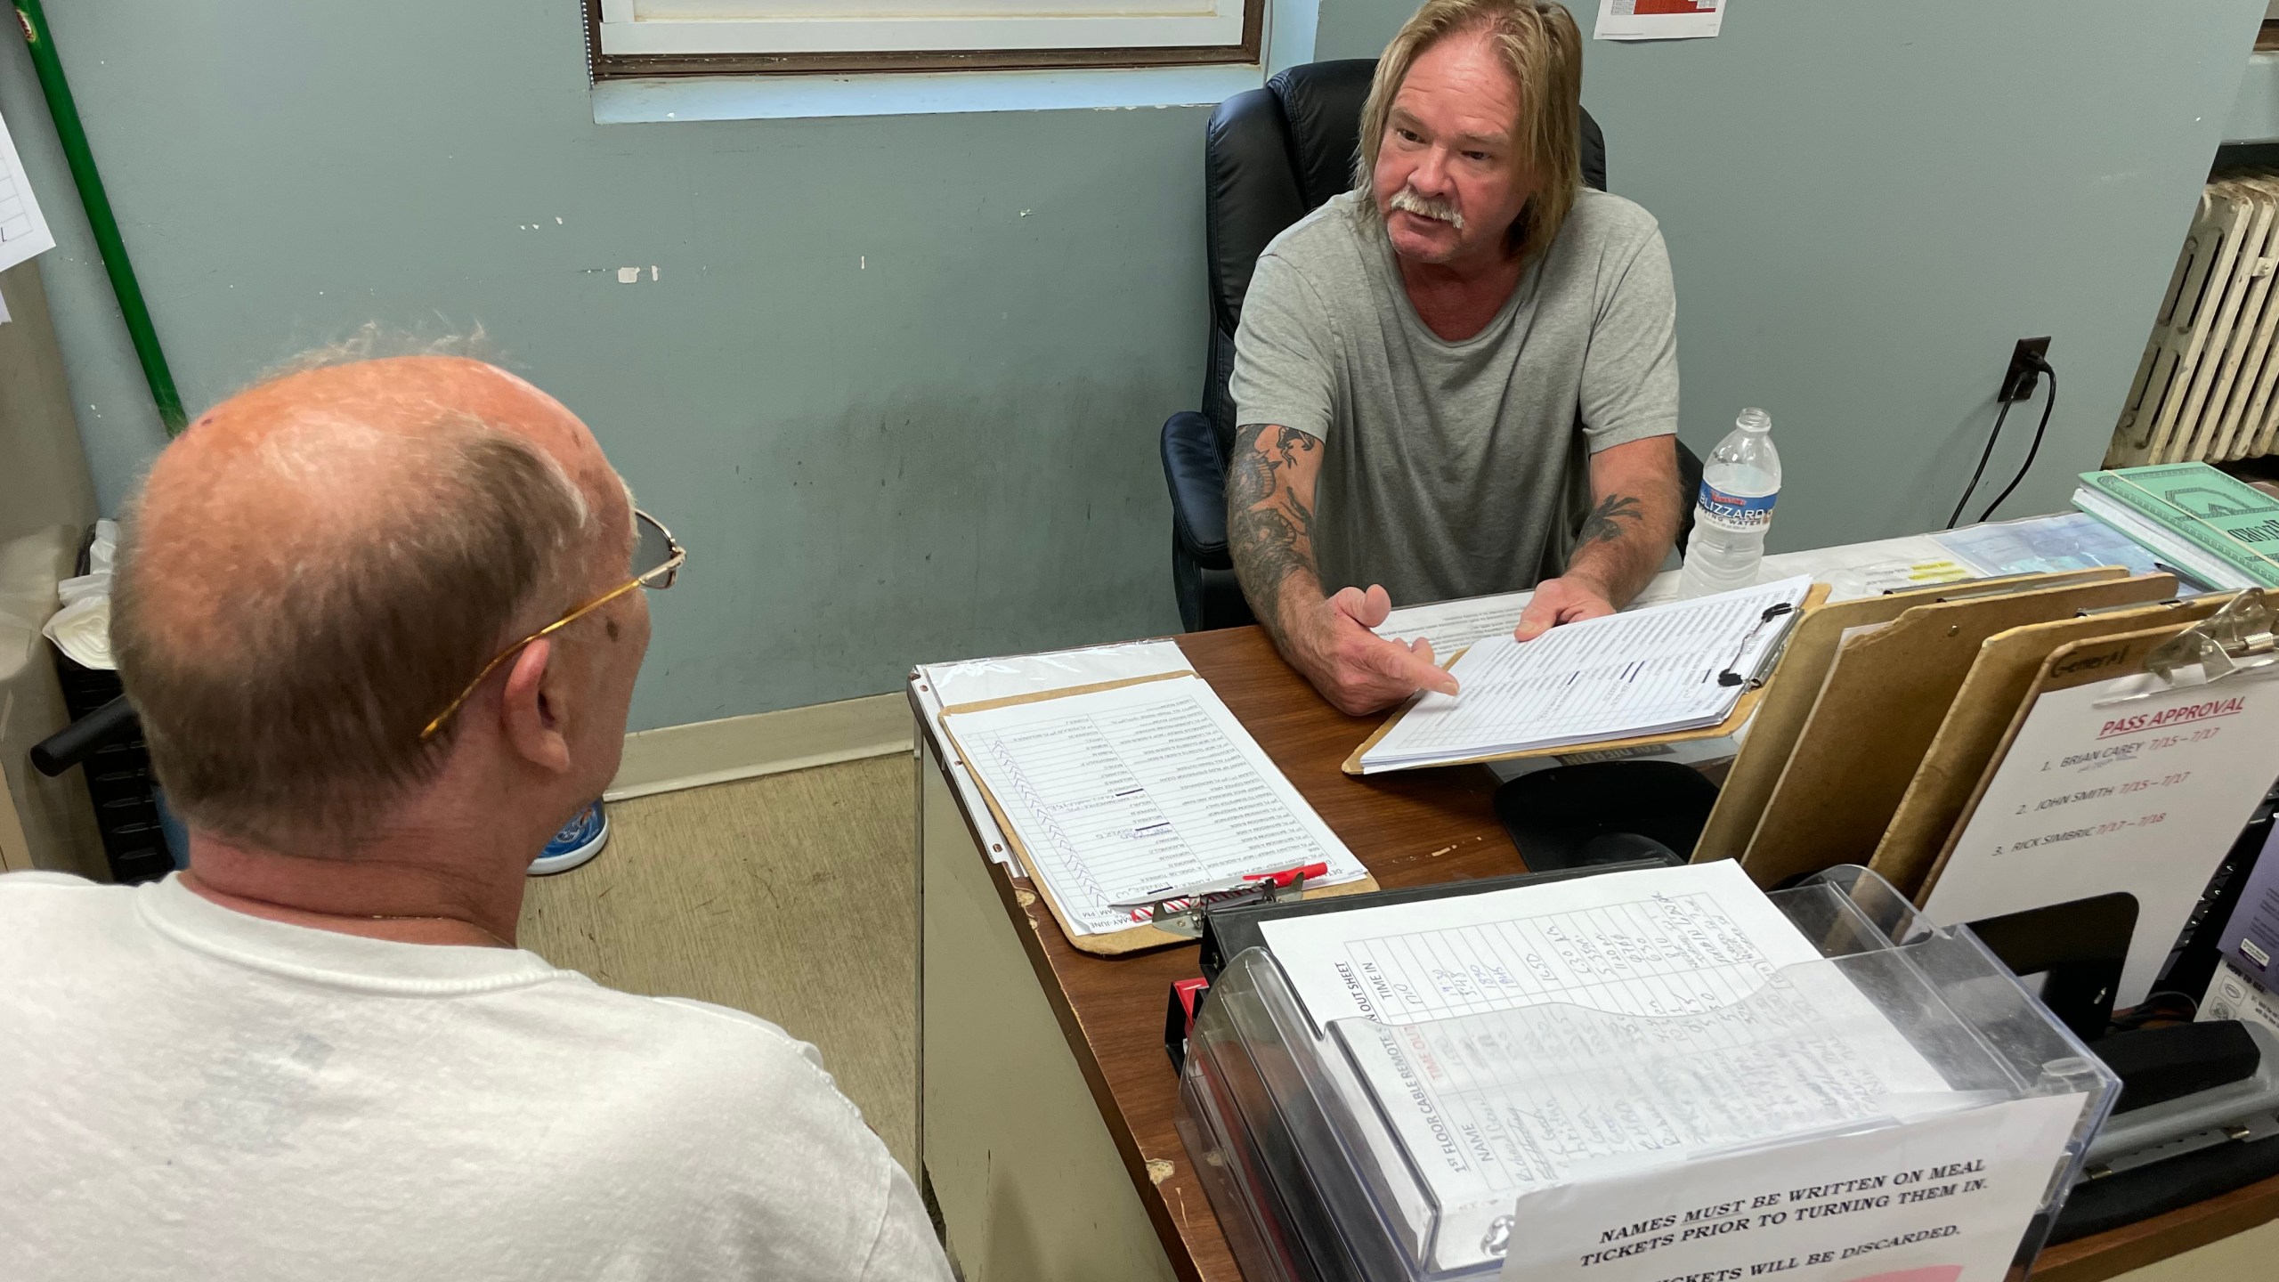
POLYGON ((230 397, 160 454, 121 550, 114 648, 169 801, 271 846, 369 823, 449 753, 426 721, 629 547, 586 424, 492 365, 230 397))

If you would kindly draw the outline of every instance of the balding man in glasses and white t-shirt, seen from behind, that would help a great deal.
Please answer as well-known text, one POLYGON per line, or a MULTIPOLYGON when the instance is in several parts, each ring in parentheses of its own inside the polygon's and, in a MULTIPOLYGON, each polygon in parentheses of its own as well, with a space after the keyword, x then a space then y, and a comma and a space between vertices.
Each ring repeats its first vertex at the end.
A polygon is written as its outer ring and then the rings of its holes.
POLYGON ((814 1047, 515 949, 679 559, 476 360, 160 456, 112 634, 191 865, 0 876, 0 1277, 948 1277, 814 1047))

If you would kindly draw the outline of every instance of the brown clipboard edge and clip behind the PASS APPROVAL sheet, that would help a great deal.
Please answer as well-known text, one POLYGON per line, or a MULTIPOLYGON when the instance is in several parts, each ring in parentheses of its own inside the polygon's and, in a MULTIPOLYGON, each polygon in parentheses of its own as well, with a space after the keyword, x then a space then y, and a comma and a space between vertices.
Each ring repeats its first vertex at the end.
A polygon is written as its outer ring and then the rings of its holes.
POLYGON ((2135 673, 2158 677, 2163 682, 2158 689, 2213 687, 2238 668, 2279 664, 2279 639, 2274 639, 2272 625, 2272 595, 2261 589, 2245 589, 2224 600, 2208 618, 2186 627, 2145 627, 2117 636, 2072 641, 2053 650, 2037 668, 2026 698, 2012 709, 1994 757, 1980 771, 1962 808, 1962 817, 1955 819, 1953 830, 1939 844, 1939 855, 1923 876, 1921 890, 1914 892, 1914 901, 1919 906, 1930 903, 1930 892, 1939 885, 1939 876, 1949 862, 1953 862, 1955 846, 1962 844, 1962 833, 1978 814, 1978 803, 1994 787, 1994 778, 2010 757, 2010 746, 2017 744, 2019 730, 2026 728, 2026 716, 2033 714, 2033 705, 2044 693, 2135 673))

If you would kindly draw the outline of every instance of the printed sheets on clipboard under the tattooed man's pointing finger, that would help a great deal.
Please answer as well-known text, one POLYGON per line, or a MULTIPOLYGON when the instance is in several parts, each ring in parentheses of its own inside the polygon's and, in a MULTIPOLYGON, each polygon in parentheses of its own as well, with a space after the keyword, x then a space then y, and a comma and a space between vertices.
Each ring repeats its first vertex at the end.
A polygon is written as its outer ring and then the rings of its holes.
POLYGON ((1810 577, 1488 636, 1361 753, 1361 773, 1716 725, 1796 620, 1810 577), (1727 675, 1730 673, 1730 675, 1727 675))

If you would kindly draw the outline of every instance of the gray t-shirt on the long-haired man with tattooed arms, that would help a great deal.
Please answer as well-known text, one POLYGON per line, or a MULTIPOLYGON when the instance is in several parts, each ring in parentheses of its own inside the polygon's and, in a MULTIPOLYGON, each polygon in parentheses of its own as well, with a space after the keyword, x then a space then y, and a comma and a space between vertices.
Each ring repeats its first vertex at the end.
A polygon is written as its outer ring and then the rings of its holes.
POLYGON ((1445 342, 1363 198, 1274 237, 1235 333, 1235 422, 1322 440, 1322 589, 1383 584, 1415 605, 1559 575, 1588 511, 1588 454, 1677 431, 1661 228, 1579 192, 1495 319, 1445 342))

